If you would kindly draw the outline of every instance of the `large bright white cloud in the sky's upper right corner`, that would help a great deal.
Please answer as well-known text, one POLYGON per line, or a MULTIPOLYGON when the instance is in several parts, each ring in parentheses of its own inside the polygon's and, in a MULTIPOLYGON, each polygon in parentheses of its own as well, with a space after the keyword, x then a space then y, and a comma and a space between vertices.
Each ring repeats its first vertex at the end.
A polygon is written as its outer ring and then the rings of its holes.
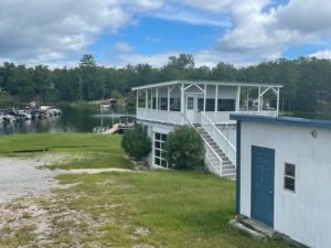
POLYGON ((271 3, 270 0, 243 0, 233 4, 233 29, 221 35, 216 48, 242 52, 243 56, 259 62, 282 56, 291 45, 331 36, 331 2, 290 0, 288 4, 267 9, 271 3))

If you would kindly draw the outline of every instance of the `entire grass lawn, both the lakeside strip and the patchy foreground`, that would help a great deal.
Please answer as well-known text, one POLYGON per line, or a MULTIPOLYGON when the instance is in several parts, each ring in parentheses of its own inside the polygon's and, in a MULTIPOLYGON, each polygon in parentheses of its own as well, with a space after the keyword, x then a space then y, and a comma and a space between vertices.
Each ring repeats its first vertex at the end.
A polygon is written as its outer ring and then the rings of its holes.
MULTIPOLYGON (((124 155, 118 136, 12 136, 0 139, 0 151, 7 151, 9 143, 12 149, 24 149, 28 140, 35 147, 86 145, 51 148, 49 152, 93 158, 68 161, 61 168, 95 168, 98 163, 129 168, 127 161, 116 160, 124 155)), ((15 208, 38 205, 42 214, 25 214, 22 218, 29 225, 0 229, 0 247, 289 247, 281 240, 257 241, 229 227, 228 219, 235 215, 235 183, 206 173, 61 174, 57 180, 62 186, 52 193, 13 203, 15 208)))

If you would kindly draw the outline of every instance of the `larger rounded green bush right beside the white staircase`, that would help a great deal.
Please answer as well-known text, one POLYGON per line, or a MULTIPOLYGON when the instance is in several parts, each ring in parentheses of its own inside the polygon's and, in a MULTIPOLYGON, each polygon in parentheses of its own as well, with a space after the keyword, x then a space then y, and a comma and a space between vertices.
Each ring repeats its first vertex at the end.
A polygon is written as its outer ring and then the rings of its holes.
POLYGON ((170 168, 192 169, 203 165, 203 141, 196 130, 189 126, 179 127, 169 133, 164 151, 170 168))

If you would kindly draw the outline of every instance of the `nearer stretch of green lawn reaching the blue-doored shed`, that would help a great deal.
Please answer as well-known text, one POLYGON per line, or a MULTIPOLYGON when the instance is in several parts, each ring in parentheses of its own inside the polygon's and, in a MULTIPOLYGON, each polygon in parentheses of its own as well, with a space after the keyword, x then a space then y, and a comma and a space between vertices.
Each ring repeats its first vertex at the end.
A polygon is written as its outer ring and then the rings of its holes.
POLYGON ((96 231, 83 234, 78 242, 93 239, 115 247, 137 244, 193 248, 289 247, 280 240, 257 241, 229 227, 228 220, 235 215, 235 184, 227 180, 204 173, 164 171, 57 179, 64 184, 79 182, 66 192, 57 191, 66 198, 62 208, 88 213, 96 219, 96 231), (148 235, 135 236, 137 228, 147 229, 148 235))

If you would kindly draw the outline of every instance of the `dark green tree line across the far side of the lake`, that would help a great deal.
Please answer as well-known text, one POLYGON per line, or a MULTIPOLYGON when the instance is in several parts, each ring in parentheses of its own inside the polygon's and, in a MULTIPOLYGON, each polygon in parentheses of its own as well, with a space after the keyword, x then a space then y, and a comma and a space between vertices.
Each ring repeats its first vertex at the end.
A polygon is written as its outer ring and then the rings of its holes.
POLYGON ((331 106, 331 61, 310 57, 280 58, 257 65, 235 67, 220 62, 214 67, 196 67, 190 54, 170 56, 168 64, 99 66, 92 54, 83 55, 74 68, 50 69, 45 65, 26 67, 4 62, 0 66, 0 87, 22 101, 96 100, 129 95, 130 88, 173 79, 281 84, 284 110, 317 111, 331 106))

